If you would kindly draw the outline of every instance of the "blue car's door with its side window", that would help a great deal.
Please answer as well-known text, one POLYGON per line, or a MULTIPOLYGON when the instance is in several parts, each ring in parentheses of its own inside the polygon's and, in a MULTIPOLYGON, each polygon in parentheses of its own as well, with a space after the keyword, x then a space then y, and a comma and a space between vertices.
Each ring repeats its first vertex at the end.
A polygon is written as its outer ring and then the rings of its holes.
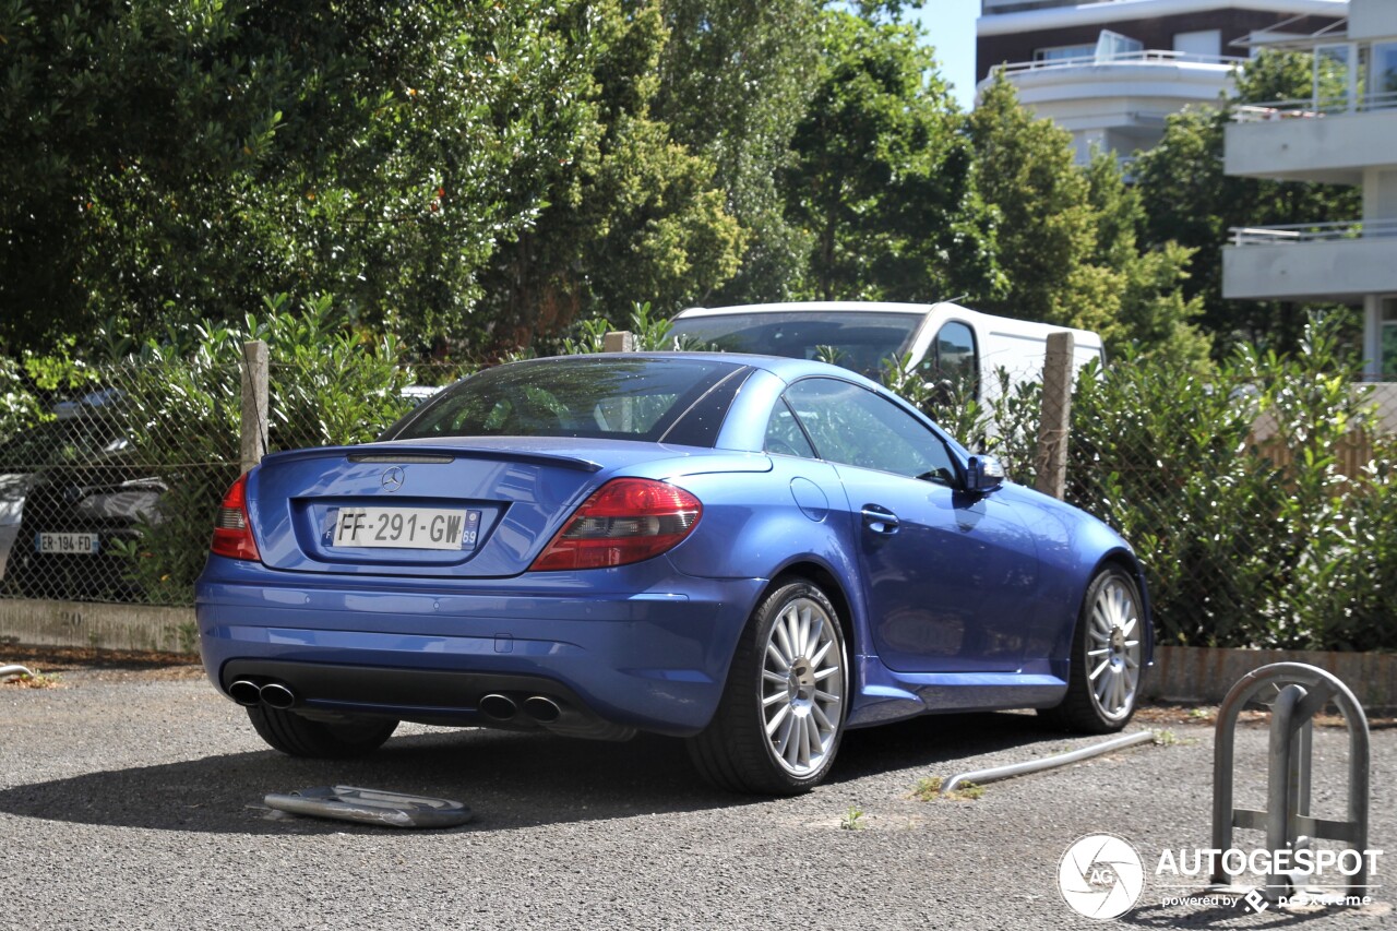
POLYGON ((849 503, 869 633, 901 672, 1018 670, 1034 622, 1038 555, 995 493, 960 489, 950 449, 862 386, 805 379, 787 400, 849 503))

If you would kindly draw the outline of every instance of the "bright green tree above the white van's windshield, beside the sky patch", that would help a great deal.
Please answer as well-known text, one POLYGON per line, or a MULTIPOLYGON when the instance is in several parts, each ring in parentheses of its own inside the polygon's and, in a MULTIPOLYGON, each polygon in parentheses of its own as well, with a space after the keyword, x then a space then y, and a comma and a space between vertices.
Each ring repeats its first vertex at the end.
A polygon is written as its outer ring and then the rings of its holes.
POLYGON ((989 212, 946 84, 911 27, 830 11, 820 78, 781 176, 813 240, 810 296, 996 294, 989 212))

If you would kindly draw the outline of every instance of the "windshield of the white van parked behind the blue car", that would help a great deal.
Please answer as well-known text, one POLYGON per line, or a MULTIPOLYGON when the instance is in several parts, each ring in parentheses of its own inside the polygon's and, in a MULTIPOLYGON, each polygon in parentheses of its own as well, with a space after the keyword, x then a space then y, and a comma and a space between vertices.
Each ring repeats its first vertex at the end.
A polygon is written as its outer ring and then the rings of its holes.
POLYGON ((672 334, 685 349, 721 349, 821 359, 872 379, 912 345, 925 315, 895 310, 773 310, 680 317, 672 334))

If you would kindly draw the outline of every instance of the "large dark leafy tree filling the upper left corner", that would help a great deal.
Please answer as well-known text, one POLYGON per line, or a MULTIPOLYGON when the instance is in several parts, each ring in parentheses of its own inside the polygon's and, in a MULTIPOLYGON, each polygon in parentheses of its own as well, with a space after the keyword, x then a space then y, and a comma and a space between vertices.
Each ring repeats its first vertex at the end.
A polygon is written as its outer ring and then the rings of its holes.
POLYGON ((0 345, 334 292, 481 333, 495 245, 587 143, 585 4, 0 8, 0 345))

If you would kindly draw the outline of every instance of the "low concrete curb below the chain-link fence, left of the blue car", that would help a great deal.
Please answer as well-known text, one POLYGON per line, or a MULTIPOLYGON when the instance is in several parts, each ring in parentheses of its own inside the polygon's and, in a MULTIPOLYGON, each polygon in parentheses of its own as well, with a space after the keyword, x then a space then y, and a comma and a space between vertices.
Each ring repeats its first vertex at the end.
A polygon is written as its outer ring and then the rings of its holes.
POLYGON ((0 598, 0 651, 17 643, 198 656, 197 633, 194 608, 0 598))

